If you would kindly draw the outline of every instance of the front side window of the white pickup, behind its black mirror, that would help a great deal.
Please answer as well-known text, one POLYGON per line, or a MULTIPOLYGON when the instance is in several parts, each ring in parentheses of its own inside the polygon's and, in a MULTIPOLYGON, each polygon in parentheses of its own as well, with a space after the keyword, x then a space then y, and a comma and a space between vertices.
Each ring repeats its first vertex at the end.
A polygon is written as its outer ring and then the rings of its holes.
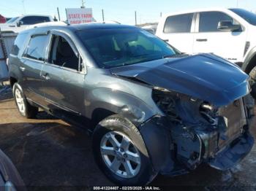
POLYGON ((218 30, 219 21, 230 20, 233 18, 224 12, 200 12, 199 32, 216 32, 218 30))

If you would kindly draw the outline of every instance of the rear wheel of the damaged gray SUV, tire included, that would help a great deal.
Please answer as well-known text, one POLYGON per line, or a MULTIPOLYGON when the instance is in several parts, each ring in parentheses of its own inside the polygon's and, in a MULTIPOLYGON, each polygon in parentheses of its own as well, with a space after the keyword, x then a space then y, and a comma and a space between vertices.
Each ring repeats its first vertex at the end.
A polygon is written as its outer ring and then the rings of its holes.
POLYGON ((12 87, 13 97, 15 99, 15 104, 18 107, 18 111, 23 117, 28 119, 33 119, 37 116, 38 107, 31 106, 29 102, 26 100, 26 96, 23 93, 22 87, 15 82, 12 87))

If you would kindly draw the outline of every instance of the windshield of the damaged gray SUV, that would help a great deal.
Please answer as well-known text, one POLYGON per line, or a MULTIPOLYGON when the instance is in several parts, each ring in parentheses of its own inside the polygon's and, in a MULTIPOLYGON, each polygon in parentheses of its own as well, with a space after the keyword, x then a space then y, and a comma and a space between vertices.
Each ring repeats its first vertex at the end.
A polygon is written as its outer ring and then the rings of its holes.
POLYGON ((154 61, 178 54, 169 44, 139 28, 90 30, 78 31, 78 36, 103 68, 154 61))

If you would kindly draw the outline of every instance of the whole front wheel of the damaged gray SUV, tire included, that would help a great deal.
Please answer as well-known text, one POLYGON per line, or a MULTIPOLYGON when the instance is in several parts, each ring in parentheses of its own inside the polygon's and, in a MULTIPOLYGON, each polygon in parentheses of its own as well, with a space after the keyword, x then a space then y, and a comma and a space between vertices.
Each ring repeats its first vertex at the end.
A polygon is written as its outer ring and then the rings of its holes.
POLYGON ((99 122, 93 151, 101 171, 118 185, 143 186, 157 176, 138 128, 118 115, 99 122))

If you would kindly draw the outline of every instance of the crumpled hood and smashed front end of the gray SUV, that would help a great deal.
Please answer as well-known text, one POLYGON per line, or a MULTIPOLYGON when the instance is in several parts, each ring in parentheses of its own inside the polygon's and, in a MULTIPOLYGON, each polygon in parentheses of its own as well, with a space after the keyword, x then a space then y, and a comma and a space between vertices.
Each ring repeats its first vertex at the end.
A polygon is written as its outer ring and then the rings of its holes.
POLYGON ((139 130, 156 171, 184 174, 200 163, 225 170, 252 148, 249 77, 233 63, 200 54, 111 72, 152 88, 151 101, 159 111, 139 130))

